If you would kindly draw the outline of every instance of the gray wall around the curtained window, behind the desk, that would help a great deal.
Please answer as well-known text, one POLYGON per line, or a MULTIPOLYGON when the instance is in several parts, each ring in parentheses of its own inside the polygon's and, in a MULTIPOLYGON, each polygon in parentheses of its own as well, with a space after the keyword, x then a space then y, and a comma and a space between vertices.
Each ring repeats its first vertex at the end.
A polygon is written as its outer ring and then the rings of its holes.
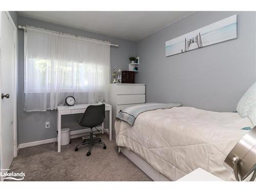
MULTIPOLYGON (((40 20, 19 16, 18 25, 34 26, 62 33, 69 33, 76 36, 96 38, 118 44, 119 47, 111 47, 111 67, 117 67, 121 70, 127 70, 129 57, 134 55, 134 42, 121 40, 105 35, 86 32, 65 26, 55 25, 40 20)), ((55 110, 47 112, 25 112, 25 94, 24 94, 24 31, 18 30, 18 143, 27 143, 32 141, 50 139, 55 137, 56 118, 55 110), (50 129, 45 129, 45 122, 50 122, 50 129)), ((77 127, 76 120, 80 115, 66 116, 62 119, 62 127, 77 127)), ((108 116, 106 116, 108 118, 108 116)))

